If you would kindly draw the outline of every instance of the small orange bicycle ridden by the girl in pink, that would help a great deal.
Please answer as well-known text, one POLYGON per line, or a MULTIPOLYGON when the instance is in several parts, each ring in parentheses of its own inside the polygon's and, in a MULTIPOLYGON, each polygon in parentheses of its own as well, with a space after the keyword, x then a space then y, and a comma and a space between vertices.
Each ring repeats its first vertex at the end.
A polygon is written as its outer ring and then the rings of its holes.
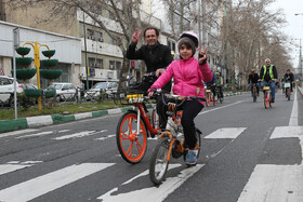
MULTIPOLYGON (((180 158, 187 154, 187 149, 184 140, 184 133, 181 125, 177 125, 173 120, 173 117, 176 116, 181 107, 188 98, 206 100, 205 98, 195 97, 195 96, 180 96, 180 95, 163 95, 169 99, 169 103, 166 103, 164 98, 162 102, 168 106, 168 122, 166 131, 162 132, 159 136, 158 144, 154 148, 153 156, 149 162, 149 179, 155 184, 159 185, 166 177, 168 165, 171 157, 180 158)), ((201 132, 196 129, 196 138, 197 145, 196 149, 198 150, 197 158, 200 152, 200 143, 201 143, 201 132)))

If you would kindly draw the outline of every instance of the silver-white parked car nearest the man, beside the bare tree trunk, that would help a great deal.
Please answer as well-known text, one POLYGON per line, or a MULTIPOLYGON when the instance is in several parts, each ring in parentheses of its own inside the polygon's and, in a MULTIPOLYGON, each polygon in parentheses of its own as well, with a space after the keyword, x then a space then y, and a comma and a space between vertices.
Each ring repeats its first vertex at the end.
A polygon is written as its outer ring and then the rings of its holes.
POLYGON ((98 82, 92 89, 87 91, 84 97, 87 99, 96 98, 100 96, 101 91, 104 91, 108 96, 110 96, 113 93, 117 93, 117 82, 98 82))

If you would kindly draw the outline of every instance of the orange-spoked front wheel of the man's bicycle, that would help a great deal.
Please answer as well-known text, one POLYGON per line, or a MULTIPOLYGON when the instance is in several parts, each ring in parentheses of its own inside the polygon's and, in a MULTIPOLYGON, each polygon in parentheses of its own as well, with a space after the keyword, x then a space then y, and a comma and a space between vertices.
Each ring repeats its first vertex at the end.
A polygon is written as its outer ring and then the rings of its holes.
POLYGON ((121 157, 131 164, 142 161, 147 149, 147 129, 140 120, 140 134, 136 135, 137 113, 127 111, 120 118, 116 130, 116 142, 121 157), (134 126, 134 127, 133 127, 134 126))

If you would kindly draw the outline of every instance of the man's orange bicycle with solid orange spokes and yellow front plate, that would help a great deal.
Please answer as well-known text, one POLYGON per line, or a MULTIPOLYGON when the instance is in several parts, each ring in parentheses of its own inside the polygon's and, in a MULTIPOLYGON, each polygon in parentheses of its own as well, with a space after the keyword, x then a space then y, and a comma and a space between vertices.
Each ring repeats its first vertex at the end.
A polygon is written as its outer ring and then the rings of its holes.
POLYGON ((142 161, 147 148, 147 137, 155 137, 159 133, 159 124, 156 119, 156 108, 153 108, 152 116, 147 116, 146 104, 148 97, 143 94, 127 95, 129 104, 134 109, 129 109, 120 118, 116 140, 121 157, 129 163, 135 164, 142 161))

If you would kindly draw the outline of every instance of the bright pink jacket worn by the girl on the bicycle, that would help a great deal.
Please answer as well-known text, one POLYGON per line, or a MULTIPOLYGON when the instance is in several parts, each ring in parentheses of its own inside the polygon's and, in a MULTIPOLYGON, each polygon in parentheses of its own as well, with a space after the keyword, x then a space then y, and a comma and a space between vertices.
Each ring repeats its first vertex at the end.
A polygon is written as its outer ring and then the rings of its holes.
POLYGON ((174 79, 173 94, 205 97, 203 82, 211 81, 213 76, 208 64, 199 65, 195 57, 173 60, 150 89, 161 89, 172 77, 174 79))

